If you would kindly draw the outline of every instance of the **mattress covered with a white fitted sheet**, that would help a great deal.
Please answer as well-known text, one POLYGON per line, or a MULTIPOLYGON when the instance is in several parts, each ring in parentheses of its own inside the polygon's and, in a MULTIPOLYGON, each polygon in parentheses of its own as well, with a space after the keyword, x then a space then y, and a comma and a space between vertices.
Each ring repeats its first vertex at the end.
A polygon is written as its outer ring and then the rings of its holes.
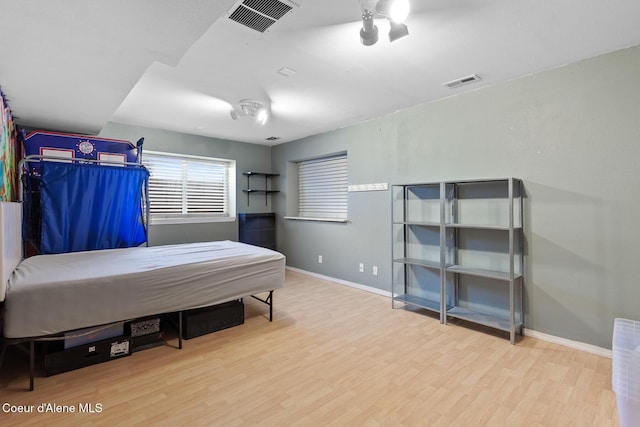
POLYGON ((219 304, 282 287, 284 266, 279 252, 231 241, 34 256, 9 280, 4 336, 219 304))

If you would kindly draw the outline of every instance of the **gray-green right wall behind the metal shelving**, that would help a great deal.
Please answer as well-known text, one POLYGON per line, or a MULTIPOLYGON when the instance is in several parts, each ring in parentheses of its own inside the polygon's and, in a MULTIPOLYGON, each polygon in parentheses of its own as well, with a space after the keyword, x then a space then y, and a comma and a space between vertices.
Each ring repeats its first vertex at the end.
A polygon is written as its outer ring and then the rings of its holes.
POLYGON ((389 192, 349 193, 347 224, 285 220, 291 161, 346 150, 350 184, 521 178, 525 326, 610 348, 615 317, 640 319, 639 75, 634 47, 275 146, 278 249, 390 290, 389 192))

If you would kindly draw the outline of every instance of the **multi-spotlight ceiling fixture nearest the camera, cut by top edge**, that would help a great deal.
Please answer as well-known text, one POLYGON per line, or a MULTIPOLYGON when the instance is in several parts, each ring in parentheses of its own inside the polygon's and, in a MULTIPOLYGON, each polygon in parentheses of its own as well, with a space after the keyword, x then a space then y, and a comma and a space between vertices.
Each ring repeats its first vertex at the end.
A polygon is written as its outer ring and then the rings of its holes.
POLYGON ((378 27, 373 22, 376 14, 389 20, 390 42, 409 35, 409 28, 403 24, 411 9, 409 0, 360 0, 360 7, 362 9, 360 41, 363 45, 371 46, 378 41, 378 27))

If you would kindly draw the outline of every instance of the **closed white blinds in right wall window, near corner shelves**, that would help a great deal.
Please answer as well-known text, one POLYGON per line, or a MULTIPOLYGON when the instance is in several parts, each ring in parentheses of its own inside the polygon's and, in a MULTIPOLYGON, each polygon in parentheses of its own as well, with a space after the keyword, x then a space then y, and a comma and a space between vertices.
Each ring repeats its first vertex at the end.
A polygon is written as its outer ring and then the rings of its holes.
POLYGON ((347 219, 347 155, 298 163, 298 208, 303 218, 347 219))

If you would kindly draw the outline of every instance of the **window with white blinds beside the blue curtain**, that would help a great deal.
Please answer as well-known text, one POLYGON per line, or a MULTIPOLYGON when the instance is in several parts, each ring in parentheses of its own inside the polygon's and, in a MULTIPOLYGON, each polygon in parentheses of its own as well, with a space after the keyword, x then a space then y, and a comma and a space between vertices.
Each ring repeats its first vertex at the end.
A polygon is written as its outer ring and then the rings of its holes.
POLYGON ((235 220, 235 161, 147 151, 152 224, 235 220))

